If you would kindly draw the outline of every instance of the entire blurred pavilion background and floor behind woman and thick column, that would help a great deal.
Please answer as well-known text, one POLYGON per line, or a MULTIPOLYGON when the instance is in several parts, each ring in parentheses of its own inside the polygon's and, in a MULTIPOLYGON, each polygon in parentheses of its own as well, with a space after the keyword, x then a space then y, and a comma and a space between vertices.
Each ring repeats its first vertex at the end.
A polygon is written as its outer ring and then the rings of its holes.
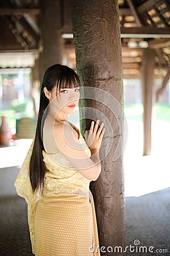
MULTIPOLYGON (((118 7, 126 245, 138 238, 162 250, 154 255, 170 255, 170 0, 118 0, 118 7)), ((0 0, 0 34, 0 249, 27 256, 27 205, 14 182, 35 135, 42 74, 54 63, 76 71, 70 1, 0 0)))

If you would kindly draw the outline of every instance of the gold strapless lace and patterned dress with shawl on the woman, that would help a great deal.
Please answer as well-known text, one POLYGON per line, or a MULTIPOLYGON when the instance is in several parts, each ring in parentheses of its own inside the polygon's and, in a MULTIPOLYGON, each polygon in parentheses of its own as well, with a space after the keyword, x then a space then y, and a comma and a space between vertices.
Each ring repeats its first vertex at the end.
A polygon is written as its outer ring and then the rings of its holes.
MULTIPOLYGON (((80 143, 84 143, 79 133, 80 143)), ((15 181, 16 191, 28 204, 28 224, 32 252, 36 256, 100 255, 94 200, 90 180, 76 170, 58 152, 42 151, 48 171, 43 192, 32 193, 29 181, 29 160, 32 147, 15 181), (98 250, 94 250, 98 248, 98 250)), ((91 156, 89 148, 87 155, 91 156)))

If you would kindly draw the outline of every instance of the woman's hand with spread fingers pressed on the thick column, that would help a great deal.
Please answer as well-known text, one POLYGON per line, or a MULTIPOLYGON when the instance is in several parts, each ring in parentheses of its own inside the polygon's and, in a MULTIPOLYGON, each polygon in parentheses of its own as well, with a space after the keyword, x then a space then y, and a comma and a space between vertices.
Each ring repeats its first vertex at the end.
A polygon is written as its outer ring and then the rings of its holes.
POLYGON ((85 140, 87 146, 91 150, 91 154, 95 154, 99 151, 101 146, 101 141, 103 139, 105 128, 103 128, 104 123, 101 123, 99 127, 100 120, 97 119, 96 124, 94 121, 91 122, 90 130, 85 133, 85 140), (99 129, 98 129, 99 128, 99 129))

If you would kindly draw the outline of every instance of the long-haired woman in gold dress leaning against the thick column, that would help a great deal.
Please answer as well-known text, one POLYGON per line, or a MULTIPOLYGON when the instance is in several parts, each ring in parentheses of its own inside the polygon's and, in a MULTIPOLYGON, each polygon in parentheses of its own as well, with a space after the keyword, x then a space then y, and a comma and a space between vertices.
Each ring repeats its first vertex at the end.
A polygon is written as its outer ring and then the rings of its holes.
POLYGON ((79 77, 56 64, 41 86, 35 139, 15 181, 28 204, 32 251, 36 256, 100 255, 94 201, 89 185, 101 171, 104 124, 91 122, 85 140, 68 121, 78 104, 79 77))

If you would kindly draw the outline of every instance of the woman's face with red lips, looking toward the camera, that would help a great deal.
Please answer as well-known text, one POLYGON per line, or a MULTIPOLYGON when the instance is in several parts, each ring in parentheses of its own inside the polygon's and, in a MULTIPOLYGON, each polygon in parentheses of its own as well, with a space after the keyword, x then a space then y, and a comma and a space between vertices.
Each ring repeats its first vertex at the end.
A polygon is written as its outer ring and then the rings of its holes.
POLYGON ((80 97, 79 87, 61 88, 60 91, 57 90, 57 95, 56 89, 57 87, 55 86, 52 92, 49 92, 49 102, 59 111, 66 114, 73 113, 80 97))

